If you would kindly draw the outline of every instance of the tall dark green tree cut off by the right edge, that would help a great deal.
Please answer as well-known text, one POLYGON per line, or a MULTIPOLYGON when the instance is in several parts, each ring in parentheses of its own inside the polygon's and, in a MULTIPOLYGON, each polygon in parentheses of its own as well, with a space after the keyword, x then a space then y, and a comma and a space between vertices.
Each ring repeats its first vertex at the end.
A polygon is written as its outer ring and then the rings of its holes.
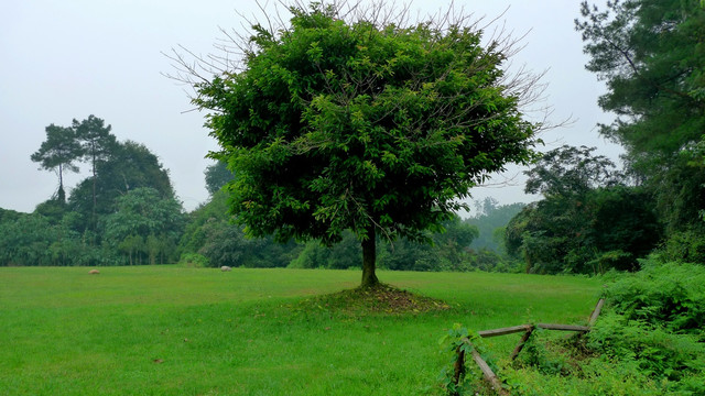
POLYGON ((705 209, 705 176, 688 168, 705 130, 705 10, 696 0, 582 3, 576 29, 586 68, 606 80, 599 105, 616 114, 600 133, 627 150, 632 174, 653 193, 669 232, 705 209))

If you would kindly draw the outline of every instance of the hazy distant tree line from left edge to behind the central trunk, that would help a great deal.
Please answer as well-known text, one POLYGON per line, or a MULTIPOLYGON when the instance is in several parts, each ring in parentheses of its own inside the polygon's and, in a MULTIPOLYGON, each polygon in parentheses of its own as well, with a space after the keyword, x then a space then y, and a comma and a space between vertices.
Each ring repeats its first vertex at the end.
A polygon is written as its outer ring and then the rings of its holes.
MULTIPOLYGON (((70 127, 46 127, 46 140, 31 158, 56 172, 56 193, 32 213, 0 209, 0 265, 137 265, 182 261, 200 266, 349 268, 361 252, 351 233, 326 248, 316 241, 279 243, 249 238, 228 212, 224 187, 234 179, 226 164, 205 172, 210 194, 186 213, 169 172, 142 144, 119 142, 111 127, 95 116, 70 127), (84 138, 86 133, 90 139, 84 138), (91 172, 74 188, 64 172, 91 172), (68 193, 67 193, 68 190, 68 193)), ((380 242, 379 265, 390 270, 470 271, 475 226, 454 217, 447 232, 427 233, 434 245, 402 239, 380 242)))

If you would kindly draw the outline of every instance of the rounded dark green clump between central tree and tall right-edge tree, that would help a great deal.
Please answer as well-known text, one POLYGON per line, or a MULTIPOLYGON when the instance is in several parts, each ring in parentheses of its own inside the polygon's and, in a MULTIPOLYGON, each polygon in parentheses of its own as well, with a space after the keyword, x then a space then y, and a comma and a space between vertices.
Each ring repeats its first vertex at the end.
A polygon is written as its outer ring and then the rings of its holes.
POLYGON ((600 274, 638 270, 661 238, 652 200, 594 148, 563 146, 527 172, 528 205, 506 230, 508 252, 529 273, 600 274))

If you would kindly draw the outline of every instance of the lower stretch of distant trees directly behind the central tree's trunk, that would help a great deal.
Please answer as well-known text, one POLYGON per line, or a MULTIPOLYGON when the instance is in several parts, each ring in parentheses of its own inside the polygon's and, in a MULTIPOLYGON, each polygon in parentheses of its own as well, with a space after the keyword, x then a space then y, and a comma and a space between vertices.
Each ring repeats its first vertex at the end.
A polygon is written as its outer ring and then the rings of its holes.
MULTIPOLYGON (((216 191, 209 202, 188 215, 182 237, 181 260, 199 266, 333 268, 359 267, 361 248, 351 232, 326 246, 319 241, 274 242, 271 237, 248 238, 241 226, 227 213, 227 194, 216 191)), ((378 265, 399 271, 475 271, 497 270, 468 249, 477 229, 458 217, 443 223, 443 232, 426 232, 431 244, 399 239, 377 241, 378 265)))

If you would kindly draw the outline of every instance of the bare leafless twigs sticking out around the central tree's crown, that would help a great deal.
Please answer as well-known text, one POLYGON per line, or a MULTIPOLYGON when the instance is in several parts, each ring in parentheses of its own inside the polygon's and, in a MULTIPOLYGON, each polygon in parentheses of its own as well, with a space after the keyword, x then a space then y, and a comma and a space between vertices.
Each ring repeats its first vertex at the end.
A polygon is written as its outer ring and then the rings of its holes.
MULTIPOLYGON (((260 11, 259 16, 247 16, 238 12, 241 19, 241 29, 227 31, 220 28, 223 37, 214 44, 215 53, 204 56, 195 54, 180 45, 177 50, 172 48, 171 53, 164 54, 172 61, 172 67, 175 70, 173 74, 164 75, 193 87, 209 84, 214 76, 227 76, 241 73, 246 69, 245 61, 248 54, 251 55, 258 51, 251 40, 256 34, 253 26, 261 25, 258 21, 263 21, 267 31, 273 37, 276 37, 282 32, 289 31, 290 25, 288 20, 291 18, 289 10, 292 7, 300 9, 310 7, 304 0, 293 0, 291 2, 281 0, 273 4, 270 3, 270 1, 257 1, 257 6, 260 11), (282 9, 286 10, 285 14, 283 14, 282 9), (272 15, 275 16, 273 18, 272 15)), ((520 45, 520 43, 528 34, 525 33, 519 38, 513 38, 511 32, 507 32, 505 23, 497 25, 497 22, 503 16, 507 9, 496 18, 485 21, 485 16, 474 18, 473 13, 466 13, 463 7, 457 8, 454 2, 451 2, 445 9, 438 8, 434 14, 420 18, 417 13, 415 19, 412 19, 411 6, 409 3, 399 6, 395 2, 390 3, 383 2, 382 0, 371 1, 369 3, 364 3, 362 1, 332 0, 327 2, 324 1, 322 6, 327 7, 330 12, 334 12, 337 19, 344 20, 347 23, 366 21, 378 29, 386 26, 408 29, 420 23, 426 23, 440 33, 447 33, 448 30, 454 28, 464 29, 469 32, 479 32, 494 26, 491 35, 487 38, 489 48, 495 53, 505 55, 507 58, 510 58, 523 48, 523 45, 520 45)), ((505 69, 512 68, 512 64, 509 63, 505 69)), ((324 73, 325 70, 321 72, 324 73)), ((529 113, 536 111, 543 112, 544 116, 540 122, 542 129, 550 125, 547 122, 550 108, 541 107, 533 109, 530 108, 530 106, 544 99, 543 92, 545 85, 540 84, 544 75, 545 72, 534 75, 529 73, 524 67, 521 67, 514 73, 507 73, 500 81, 508 94, 517 96, 520 99, 522 111, 529 113)), ((375 78, 371 76, 364 81, 356 80, 355 76, 345 77, 357 84, 361 82, 357 87, 359 90, 369 89, 369 87, 375 85, 375 78)), ((335 91, 332 85, 329 85, 328 88, 330 94, 335 95, 340 102, 347 102, 350 99, 349 97, 345 97, 345 92, 335 91)), ((194 92, 189 97, 193 99, 196 96, 196 92, 194 92)), ((475 110, 481 105, 482 103, 475 103, 473 107, 468 107, 467 112, 475 110)), ((442 108, 436 109, 436 116, 442 116, 443 111, 444 109, 442 108)), ((463 116, 464 114, 456 114, 456 118, 459 120, 463 116)), ((423 122, 423 120, 420 122, 423 122)), ((564 123, 565 121, 562 121, 556 125, 564 123)))

